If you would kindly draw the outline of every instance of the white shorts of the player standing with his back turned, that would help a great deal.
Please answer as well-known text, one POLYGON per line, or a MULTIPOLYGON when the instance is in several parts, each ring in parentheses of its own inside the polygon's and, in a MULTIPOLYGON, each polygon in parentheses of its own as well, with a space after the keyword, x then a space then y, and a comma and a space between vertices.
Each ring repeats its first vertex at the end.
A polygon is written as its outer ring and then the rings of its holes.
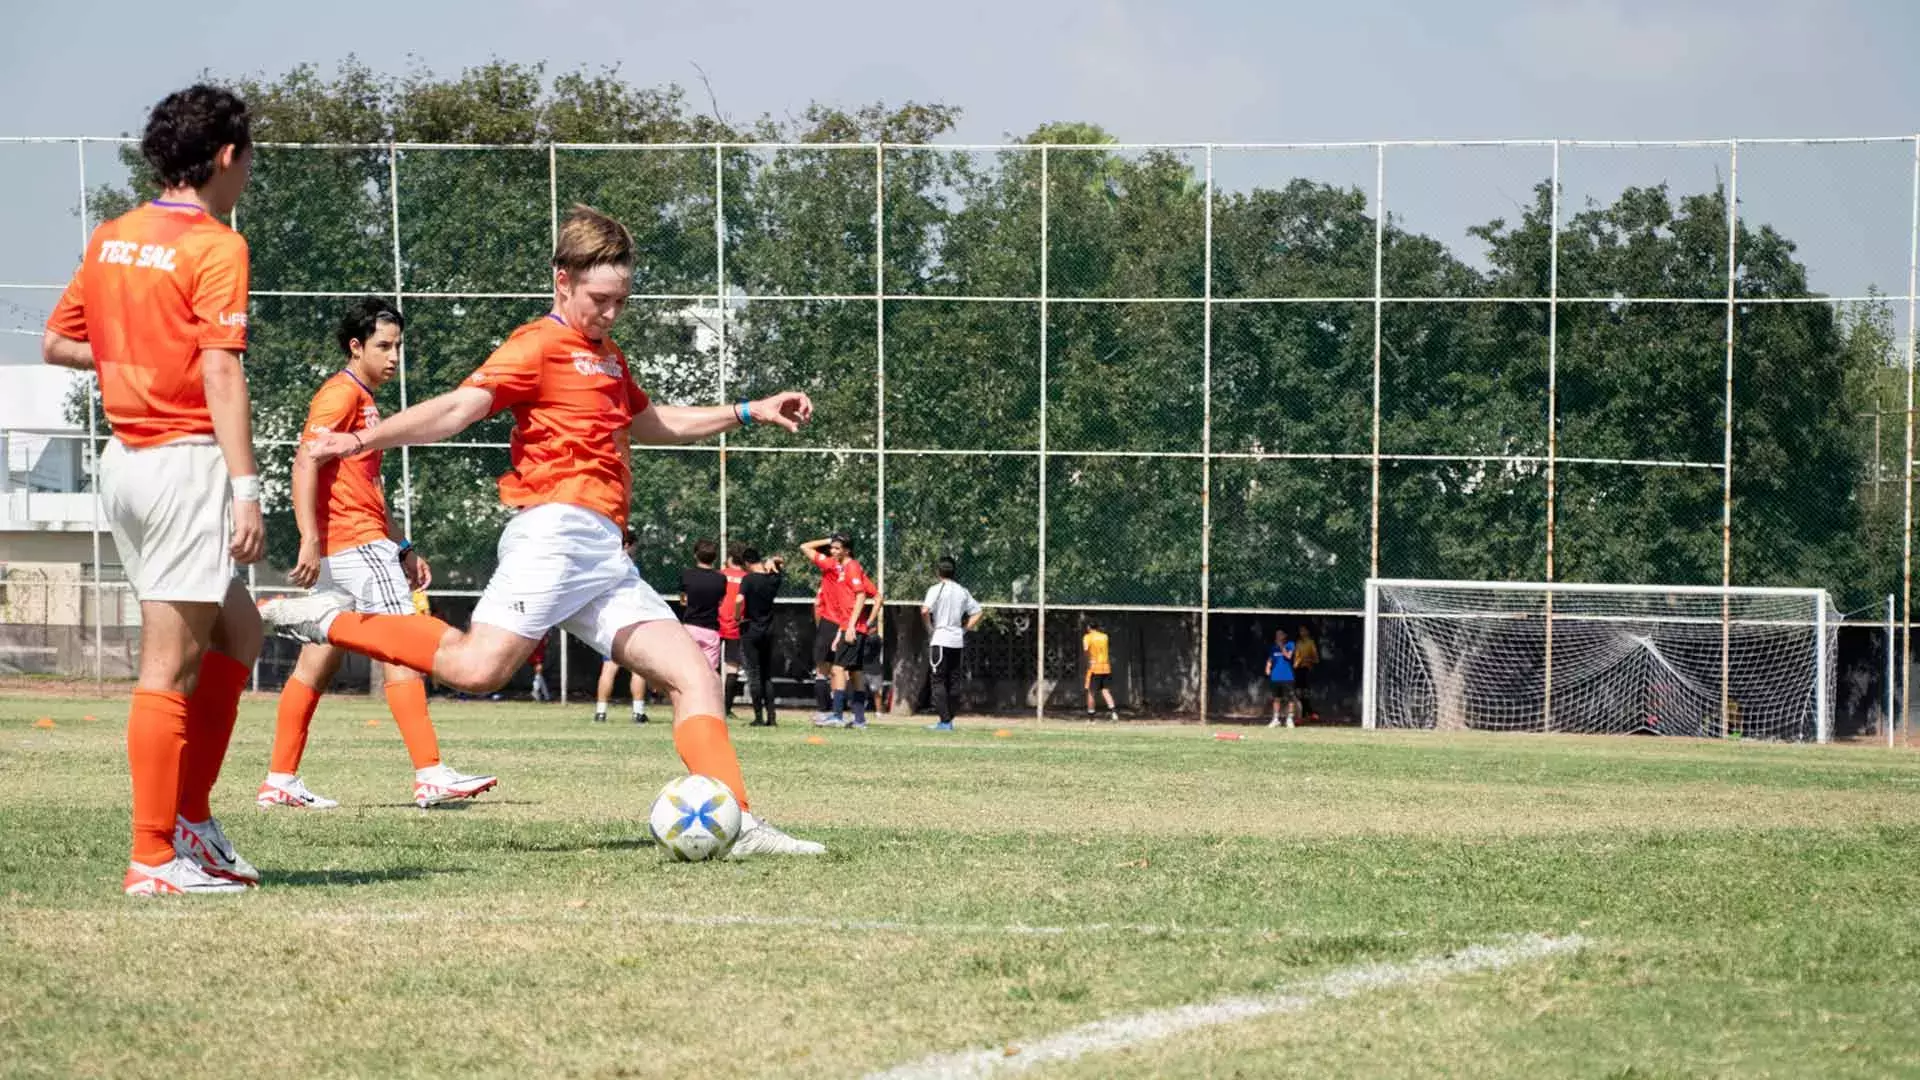
POLYGON ((109 440, 100 502, 136 600, 219 603, 234 580, 227 459, 207 438, 132 450, 109 440))

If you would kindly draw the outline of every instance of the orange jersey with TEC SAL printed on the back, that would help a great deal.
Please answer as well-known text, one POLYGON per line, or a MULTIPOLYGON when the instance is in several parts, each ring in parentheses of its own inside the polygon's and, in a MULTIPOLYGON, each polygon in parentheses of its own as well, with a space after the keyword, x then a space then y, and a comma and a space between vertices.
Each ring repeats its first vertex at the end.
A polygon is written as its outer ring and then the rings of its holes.
POLYGON ((46 329, 90 342, 127 446, 211 436, 200 350, 246 352, 246 240, 194 204, 150 202, 94 229, 46 329))

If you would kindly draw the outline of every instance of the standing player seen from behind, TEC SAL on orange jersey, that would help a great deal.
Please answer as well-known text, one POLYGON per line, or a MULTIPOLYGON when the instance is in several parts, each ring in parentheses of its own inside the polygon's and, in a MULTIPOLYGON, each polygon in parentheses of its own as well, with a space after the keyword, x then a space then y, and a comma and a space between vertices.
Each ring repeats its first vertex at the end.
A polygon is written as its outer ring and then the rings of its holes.
POLYGON ((244 892, 209 796, 259 657, 234 563, 261 555, 259 475, 240 356, 248 250, 219 219, 253 163, 246 102, 215 86, 167 94, 140 156, 159 198, 102 223, 46 323, 48 363, 92 371, 113 438, 100 502, 140 601, 140 675, 127 717, 129 896, 244 892))

